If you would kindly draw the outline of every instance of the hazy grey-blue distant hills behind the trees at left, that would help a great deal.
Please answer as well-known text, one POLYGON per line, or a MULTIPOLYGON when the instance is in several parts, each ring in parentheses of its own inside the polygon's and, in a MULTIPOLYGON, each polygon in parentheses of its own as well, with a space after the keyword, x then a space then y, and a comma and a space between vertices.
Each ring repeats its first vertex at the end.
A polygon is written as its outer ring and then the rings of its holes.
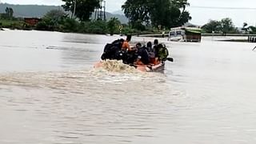
MULTIPOLYGON (((62 6, 39 6, 39 5, 12 5, 0 3, 0 13, 6 12, 6 7, 11 7, 14 10, 14 17, 36 17, 42 18, 50 10, 63 10, 62 6)), ((94 14, 93 14, 94 15, 94 14)), ((118 18, 122 23, 127 23, 128 19, 121 14, 106 13, 106 19, 118 18)))

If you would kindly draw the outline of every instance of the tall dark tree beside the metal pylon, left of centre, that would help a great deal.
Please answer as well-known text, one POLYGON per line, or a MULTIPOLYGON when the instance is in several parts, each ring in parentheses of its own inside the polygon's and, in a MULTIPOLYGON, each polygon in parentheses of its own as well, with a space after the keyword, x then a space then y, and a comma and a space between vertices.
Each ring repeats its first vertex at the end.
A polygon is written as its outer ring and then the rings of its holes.
POLYGON ((96 7, 100 6, 101 0, 62 0, 66 2, 62 5, 66 11, 74 11, 74 16, 79 18, 80 21, 89 21, 91 14, 94 12, 96 7), (76 5, 74 3, 76 2, 76 5), (74 7, 75 6, 75 7, 74 7))

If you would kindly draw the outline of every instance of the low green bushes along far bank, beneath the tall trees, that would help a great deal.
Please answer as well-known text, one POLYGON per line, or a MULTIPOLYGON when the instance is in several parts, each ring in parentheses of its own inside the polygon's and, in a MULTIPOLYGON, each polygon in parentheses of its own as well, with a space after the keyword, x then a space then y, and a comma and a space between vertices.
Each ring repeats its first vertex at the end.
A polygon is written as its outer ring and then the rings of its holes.
POLYGON ((50 10, 36 26, 30 26, 23 18, 0 17, 0 28, 18 30, 49 30, 60 32, 74 32, 85 34, 155 34, 157 29, 147 27, 146 30, 130 28, 128 24, 121 24, 118 18, 110 18, 109 21, 101 19, 90 21, 78 21, 70 18, 62 10, 50 10))

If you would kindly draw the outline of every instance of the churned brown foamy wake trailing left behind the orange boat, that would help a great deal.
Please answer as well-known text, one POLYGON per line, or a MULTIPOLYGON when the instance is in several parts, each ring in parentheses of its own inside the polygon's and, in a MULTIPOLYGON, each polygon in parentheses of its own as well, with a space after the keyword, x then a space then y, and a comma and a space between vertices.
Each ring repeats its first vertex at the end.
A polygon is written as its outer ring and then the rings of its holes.
POLYGON ((0 74, 0 86, 25 86, 56 90, 88 90, 91 87, 136 82, 163 82, 164 74, 142 73, 118 61, 106 61, 102 68, 51 72, 14 72, 0 74))

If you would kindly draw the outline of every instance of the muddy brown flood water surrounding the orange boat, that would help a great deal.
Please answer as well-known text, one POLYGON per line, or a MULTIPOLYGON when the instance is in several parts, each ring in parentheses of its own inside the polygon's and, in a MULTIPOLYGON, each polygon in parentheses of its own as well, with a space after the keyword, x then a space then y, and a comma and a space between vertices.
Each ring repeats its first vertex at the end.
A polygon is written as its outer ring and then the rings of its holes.
POLYGON ((256 142, 253 43, 160 38, 163 74, 94 70, 116 38, 0 31, 0 143, 256 142))

